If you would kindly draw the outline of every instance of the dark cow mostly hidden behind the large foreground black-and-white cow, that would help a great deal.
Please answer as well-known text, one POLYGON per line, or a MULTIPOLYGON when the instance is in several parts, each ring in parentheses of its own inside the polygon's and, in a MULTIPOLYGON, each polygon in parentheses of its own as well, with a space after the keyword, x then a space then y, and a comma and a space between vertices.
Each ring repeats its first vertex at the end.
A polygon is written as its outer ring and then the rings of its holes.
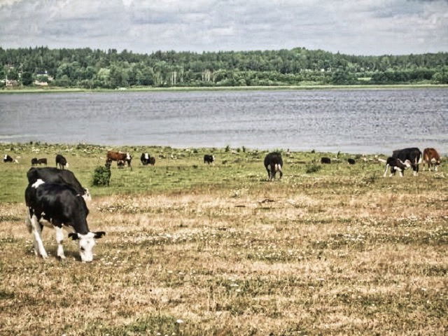
POLYGON ((46 183, 65 183, 71 186, 85 201, 92 200, 89 190, 81 186, 75 175, 69 170, 60 170, 53 167, 31 167, 27 172, 28 183, 35 183, 38 179, 46 183))

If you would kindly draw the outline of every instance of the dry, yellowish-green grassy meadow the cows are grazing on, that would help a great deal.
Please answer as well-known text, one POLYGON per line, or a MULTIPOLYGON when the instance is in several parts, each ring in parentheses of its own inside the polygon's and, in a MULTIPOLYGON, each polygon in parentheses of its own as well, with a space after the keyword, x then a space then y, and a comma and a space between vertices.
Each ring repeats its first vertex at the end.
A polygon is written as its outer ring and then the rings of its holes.
MULTIPOLYGON (((0 335, 446 335, 447 168, 383 178, 373 156, 1 144, 0 335), (92 187, 106 151, 111 185, 92 187), (155 156, 144 167, 141 153, 155 156), (24 224, 31 158, 64 155, 83 186, 94 261, 64 241, 36 258, 24 224), (204 165, 213 153, 214 165, 204 165), (346 158, 356 158, 347 165, 346 158)), ((385 158, 384 156, 381 156, 385 158)), ((446 158, 444 158, 446 162, 446 158)))

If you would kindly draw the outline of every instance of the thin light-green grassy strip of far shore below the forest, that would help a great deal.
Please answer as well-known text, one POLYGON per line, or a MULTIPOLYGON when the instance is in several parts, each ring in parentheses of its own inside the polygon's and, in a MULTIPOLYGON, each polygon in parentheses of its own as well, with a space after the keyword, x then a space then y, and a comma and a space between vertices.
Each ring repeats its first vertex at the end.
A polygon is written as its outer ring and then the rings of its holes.
POLYGON ((390 89, 446 89, 447 84, 393 84, 393 85, 284 85, 284 86, 220 86, 220 87, 119 87, 117 89, 87 89, 83 87, 17 87, 4 88, 7 93, 65 93, 65 92, 160 92, 160 91, 248 91, 248 90, 390 90, 390 89))

